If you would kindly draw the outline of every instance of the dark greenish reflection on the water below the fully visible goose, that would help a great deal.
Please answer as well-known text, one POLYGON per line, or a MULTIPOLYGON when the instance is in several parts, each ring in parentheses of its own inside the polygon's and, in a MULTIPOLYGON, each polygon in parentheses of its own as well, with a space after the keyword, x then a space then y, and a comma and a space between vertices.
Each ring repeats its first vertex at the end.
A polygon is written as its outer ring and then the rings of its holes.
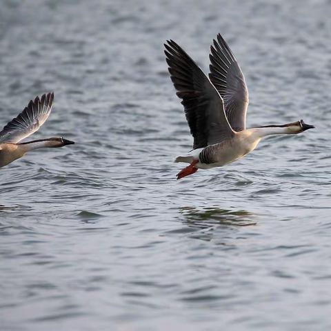
POLYGON ((183 207, 179 212, 184 223, 190 228, 213 228, 215 225, 248 226, 256 225, 256 215, 246 210, 229 210, 217 207, 183 207))

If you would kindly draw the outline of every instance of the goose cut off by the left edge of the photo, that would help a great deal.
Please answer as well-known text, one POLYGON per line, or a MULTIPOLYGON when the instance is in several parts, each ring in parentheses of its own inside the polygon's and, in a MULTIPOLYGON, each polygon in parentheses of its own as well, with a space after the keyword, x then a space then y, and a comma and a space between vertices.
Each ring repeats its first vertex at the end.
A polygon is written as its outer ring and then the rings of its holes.
POLYGON ((62 137, 19 141, 36 132, 50 116, 54 93, 43 94, 41 98, 30 100, 28 106, 16 118, 12 119, 0 132, 0 168, 23 157, 26 152, 43 147, 63 147, 74 141, 62 137))

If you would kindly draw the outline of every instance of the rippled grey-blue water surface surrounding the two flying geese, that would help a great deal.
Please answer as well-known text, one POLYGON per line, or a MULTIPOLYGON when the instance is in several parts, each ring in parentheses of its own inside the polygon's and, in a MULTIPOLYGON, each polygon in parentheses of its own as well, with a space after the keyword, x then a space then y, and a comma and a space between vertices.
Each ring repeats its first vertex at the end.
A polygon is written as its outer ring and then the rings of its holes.
POLYGON ((77 142, 1 169, 1 330, 329 330, 330 1, 3 1, 4 125, 77 142), (248 126, 304 119, 176 181, 190 150, 163 42, 203 67, 221 32, 248 126))

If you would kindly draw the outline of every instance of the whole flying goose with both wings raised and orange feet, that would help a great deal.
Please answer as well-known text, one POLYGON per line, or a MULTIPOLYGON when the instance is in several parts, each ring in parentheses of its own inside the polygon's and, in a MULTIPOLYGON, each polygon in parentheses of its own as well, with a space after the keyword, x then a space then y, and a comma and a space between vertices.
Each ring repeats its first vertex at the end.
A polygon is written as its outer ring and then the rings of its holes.
POLYGON ((243 72, 221 34, 210 46, 207 76, 174 41, 164 44, 170 78, 182 100, 193 136, 193 149, 175 162, 190 163, 178 174, 181 179, 198 169, 221 167, 252 152, 263 137, 298 134, 314 126, 300 121, 283 125, 245 128, 248 88, 243 72))

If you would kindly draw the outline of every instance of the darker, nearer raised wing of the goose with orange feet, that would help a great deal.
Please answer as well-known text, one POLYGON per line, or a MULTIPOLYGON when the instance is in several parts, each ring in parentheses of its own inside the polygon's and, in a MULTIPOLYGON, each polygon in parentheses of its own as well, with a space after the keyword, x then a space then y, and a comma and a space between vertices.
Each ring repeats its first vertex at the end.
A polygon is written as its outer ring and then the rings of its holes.
POLYGON ((174 41, 167 41, 165 56, 177 96, 194 138, 193 149, 220 143, 234 135, 225 116, 223 99, 208 77, 174 41))

